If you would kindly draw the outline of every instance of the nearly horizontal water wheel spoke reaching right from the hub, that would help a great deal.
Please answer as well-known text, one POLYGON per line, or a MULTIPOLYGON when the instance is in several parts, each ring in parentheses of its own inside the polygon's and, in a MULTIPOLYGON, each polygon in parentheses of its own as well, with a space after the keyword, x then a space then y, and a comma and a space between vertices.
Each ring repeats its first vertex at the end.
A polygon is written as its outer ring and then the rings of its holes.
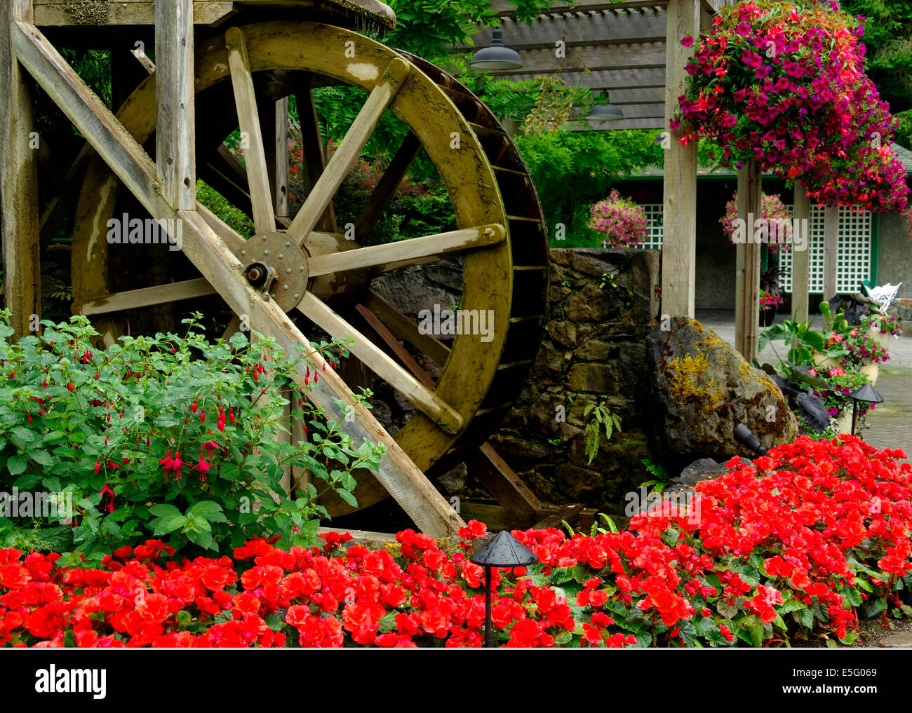
POLYGON ((307 274, 316 276, 346 270, 361 270, 366 267, 383 268, 389 263, 396 263, 399 266, 417 264, 414 261, 426 263, 430 262, 428 258, 440 259, 446 253, 501 243, 505 237, 506 231, 503 229, 503 225, 492 223, 450 233, 412 238, 399 241, 399 243, 372 245, 367 248, 347 250, 343 253, 316 255, 307 261, 307 274))

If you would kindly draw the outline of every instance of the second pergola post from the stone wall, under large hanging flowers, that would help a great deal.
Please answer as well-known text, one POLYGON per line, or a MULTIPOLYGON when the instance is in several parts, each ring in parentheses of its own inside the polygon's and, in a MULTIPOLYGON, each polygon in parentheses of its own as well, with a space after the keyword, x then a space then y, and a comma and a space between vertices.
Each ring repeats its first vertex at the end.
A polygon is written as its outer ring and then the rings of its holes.
POLYGON ((743 221, 745 242, 736 246, 735 347, 753 361, 760 330, 760 243, 754 240, 754 221, 762 217, 760 169, 755 161, 738 171, 738 217, 743 221))

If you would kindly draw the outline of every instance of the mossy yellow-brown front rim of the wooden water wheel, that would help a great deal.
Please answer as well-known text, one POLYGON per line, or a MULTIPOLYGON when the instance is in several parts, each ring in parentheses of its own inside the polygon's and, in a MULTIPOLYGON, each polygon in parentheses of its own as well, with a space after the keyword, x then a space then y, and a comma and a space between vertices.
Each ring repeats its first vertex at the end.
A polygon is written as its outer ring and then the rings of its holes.
MULTIPOLYGON (((384 68, 395 57, 408 57, 357 33, 316 23, 264 23, 244 26, 251 69, 256 71, 303 70, 370 91, 384 68), (348 42, 355 42, 355 58, 345 57, 348 42)), ((509 221, 491 163, 472 127, 450 98, 414 63, 408 78, 389 109, 420 140, 451 191, 451 202, 460 228, 509 221), (458 133, 460 149, 452 150, 451 136, 458 133)), ((197 48, 195 86, 199 93, 218 82, 231 81, 223 36, 197 48)), ((155 128, 155 78, 147 78, 119 110, 118 118, 141 143, 155 128)), ((105 230, 114 211, 119 181, 98 157, 88 169, 80 195, 73 234, 74 304, 108 294, 108 244, 105 230)), ((505 240, 483 251, 463 253, 464 309, 493 310, 493 339, 478 335, 456 336, 443 365, 434 393, 463 419, 468 428, 482 404, 500 365, 513 302, 511 243, 505 240)), ((254 325, 255 328, 255 325, 254 325)), ((531 356, 531 355, 530 355, 531 356)), ((428 470, 446 453, 460 434, 449 434, 416 412, 395 439, 420 468, 428 470)), ((363 507, 386 497, 373 479, 359 482, 358 501, 363 507)), ((330 508, 334 513, 346 507, 330 508)))

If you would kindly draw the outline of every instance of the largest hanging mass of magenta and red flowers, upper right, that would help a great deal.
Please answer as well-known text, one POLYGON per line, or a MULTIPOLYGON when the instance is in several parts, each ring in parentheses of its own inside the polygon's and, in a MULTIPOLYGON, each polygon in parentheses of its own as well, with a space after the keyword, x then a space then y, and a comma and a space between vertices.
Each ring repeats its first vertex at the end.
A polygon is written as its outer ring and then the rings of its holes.
POLYGON ((850 15, 806 0, 722 7, 687 66, 671 128, 682 143, 715 140, 723 166, 757 161, 800 178, 819 203, 902 211, 895 119, 865 76, 863 31, 850 15))

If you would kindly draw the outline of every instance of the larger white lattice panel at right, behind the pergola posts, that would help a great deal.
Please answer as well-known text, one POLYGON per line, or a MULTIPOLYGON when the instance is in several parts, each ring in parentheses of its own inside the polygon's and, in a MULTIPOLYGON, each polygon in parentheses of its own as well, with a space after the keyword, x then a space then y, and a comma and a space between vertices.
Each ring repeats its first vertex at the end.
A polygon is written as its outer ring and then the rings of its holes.
MULTIPOLYGON (((791 212, 793 206, 787 206, 791 212)), ((836 292, 858 292, 862 280, 871 279, 872 218, 867 211, 839 207, 838 246, 836 252, 836 292)), ((824 209, 811 207, 810 251, 811 275, 809 292, 824 292, 824 209)), ((792 292, 792 253, 782 253, 779 260, 782 292, 792 292)))

